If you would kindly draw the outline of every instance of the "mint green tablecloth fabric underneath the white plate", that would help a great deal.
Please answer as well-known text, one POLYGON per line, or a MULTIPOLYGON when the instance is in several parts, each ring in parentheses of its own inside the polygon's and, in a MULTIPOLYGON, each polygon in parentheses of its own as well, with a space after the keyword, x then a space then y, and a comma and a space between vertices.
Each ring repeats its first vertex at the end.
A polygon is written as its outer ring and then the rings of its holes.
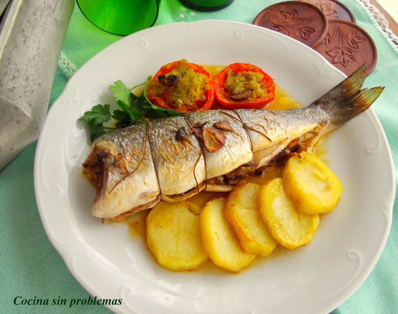
MULTIPOLYGON (((380 119, 398 169, 398 49, 378 26, 359 0, 340 0, 354 13, 357 24, 365 29, 378 48, 378 63, 366 86, 385 85, 386 89, 372 107, 380 119)), ((265 7, 278 1, 235 0, 218 12, 194 12, 178 0, 162 0, 156 25, 173 21, 201 19, 234 20, 252 23, 265 7), (183 17, 179 17, 183 14, 183 17)), ((217 30, 215 30, 217 31, 217 30)), ((121 37, 97 29, 84 18, 77 6, 62 48, 66 57, 79 68, 94 54, 121 37)), ((67 82, 57 71, 50 105, 67 82)), ((16 306, 23 298, 88 298, 89 294, 69 273, 49 242, 37 212, 33 189, 33 159, 36 142, 30 144, 0 173, 0 313, 110 313, 104 306, 16 306)), ((375 165, 377 166, 377 165, 375 165)), ((382 166, 382 165, 380 165, 382 166)), ((397 178, 397 172, 395 173, 397 178)), ((334 314, 398 313, 398 222, 397 208, 390 236, 382 255, 365 282, 334 314)))

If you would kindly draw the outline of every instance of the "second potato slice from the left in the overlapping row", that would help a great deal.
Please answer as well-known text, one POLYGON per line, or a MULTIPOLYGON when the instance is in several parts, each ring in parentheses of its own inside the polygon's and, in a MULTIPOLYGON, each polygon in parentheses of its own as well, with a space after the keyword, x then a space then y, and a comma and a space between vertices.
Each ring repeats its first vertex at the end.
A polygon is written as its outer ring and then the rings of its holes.
POLYGON ((245 253, 240 249, 231 226, 222 216, 225 199, 211 199, 203 207, 201 234, 203 247, 216 265, 229 271, 240 271, 250 265, 256 254, 245 253))

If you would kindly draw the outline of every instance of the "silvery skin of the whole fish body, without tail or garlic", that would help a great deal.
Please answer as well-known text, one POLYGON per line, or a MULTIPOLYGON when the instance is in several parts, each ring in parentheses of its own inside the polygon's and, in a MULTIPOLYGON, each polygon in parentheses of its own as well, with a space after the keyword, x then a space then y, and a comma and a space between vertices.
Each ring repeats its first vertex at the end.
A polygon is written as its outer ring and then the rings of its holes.
POLYGON ((282 140, 273 152, 275 155, 288 141, 313 129, 325 117, 322 111, 307 108, 293 111, 206 110, 187 113, 186 119, 174 116, 149 121, 148 135, 143 124, 106 133, 93 143, 93 147, 107 152, 104 168, 108 169, 100 193, 94 199, 93 215, 111 218, 153 201, 160 193, 185 193, 205 179, 222 176, 250 162, 253 151, 270 144, 270 139, 272 142, 282 140), (315 123, 310 121, 311 117, 315 123), (191 125, 207 122, 204 128, 228 121, 234 131, 223 131, 226 141, 216 152, 206 149, 202 152, 197 138, 189 132, 187 121, 191 125), (189 140, 176 140, 180 127, 186 128, 189 140), (193 176, 194 168, 197 181, 193 176))

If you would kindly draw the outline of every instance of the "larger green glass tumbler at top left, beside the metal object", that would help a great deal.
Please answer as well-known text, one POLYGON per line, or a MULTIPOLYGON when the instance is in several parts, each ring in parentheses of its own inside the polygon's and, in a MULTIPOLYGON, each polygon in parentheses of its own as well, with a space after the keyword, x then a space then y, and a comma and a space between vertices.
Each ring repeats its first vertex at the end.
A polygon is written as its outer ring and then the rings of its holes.
POLYGON ((76 0, 83 15, 98 28, 115 35, 130 35, 151 27, 160 0, 76 0))

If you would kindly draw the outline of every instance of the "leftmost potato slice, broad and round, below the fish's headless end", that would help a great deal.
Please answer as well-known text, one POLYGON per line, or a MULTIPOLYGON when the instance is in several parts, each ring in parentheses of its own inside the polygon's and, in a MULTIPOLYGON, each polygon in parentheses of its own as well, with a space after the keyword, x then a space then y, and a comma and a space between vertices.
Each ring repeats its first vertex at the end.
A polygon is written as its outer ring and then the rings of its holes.
POLYGON ((160 201, 146 216, 146 242, 156 261, 173 271, 197 269, 209 256, 200 235, 199 207, 160 201))

